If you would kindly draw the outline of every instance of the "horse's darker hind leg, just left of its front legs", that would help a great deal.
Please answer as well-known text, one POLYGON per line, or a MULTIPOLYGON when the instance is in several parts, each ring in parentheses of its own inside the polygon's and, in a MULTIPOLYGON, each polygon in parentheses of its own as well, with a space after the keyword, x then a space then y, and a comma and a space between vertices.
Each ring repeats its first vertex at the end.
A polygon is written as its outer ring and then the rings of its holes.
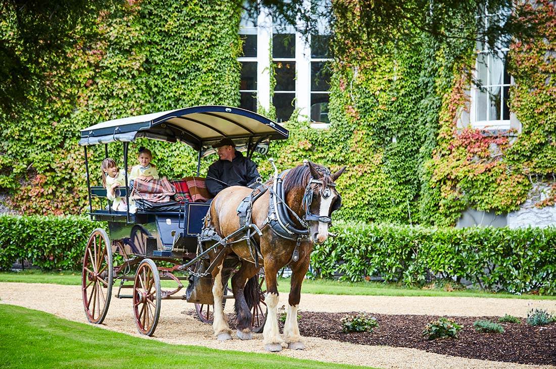
MULTIPOLYGON (((251 304, 255 303, 254 292, 256 292, 256 297, 259 297, 259 285, 256 283, 257 290, 251 291, 249 286, 245 286, 245 283, 253 276, 257 275, 259 270, 255 268, 255 265, 244 261, 241 263, 240 270, 235 273, 232 277, 232 290, 234 291, 235 298, 235 308, 236 308, 236 330, 237 337, 241 340, 251 340, 251 304), (247 295, 247 296, 246 296, 247 295)), ((251 286, 252 287, 252 286, 251 286)), ((257 301, 258 302, 258 301, 257 301)))

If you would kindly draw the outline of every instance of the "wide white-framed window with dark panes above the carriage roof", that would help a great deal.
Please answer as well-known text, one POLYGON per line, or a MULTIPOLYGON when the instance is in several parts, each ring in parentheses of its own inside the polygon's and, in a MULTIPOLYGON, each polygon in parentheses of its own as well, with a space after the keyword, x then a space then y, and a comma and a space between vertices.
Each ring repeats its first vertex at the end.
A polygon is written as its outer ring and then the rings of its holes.
POLYGON ((272 104, 278 122, 287 121, 297 109, 300 119, 328 123, 331 78, 328 24, 319 22, 319 34, 307 39, 293 27, 273 24, 267 9, 262 9, 250 23, 242 19, 239 33, 244 39, 244 53, 238 58, 242 64, 241 107, 255 111, 259 106, 267 110, 272 104), (275 73, 276 81, 272 98, 270 71, 275 73))

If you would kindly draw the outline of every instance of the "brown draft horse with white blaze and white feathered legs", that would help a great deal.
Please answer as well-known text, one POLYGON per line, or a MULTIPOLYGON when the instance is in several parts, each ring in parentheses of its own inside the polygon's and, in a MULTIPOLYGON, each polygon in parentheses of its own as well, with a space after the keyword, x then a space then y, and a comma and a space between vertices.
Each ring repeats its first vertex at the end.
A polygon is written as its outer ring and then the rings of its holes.
MULTIPOLYGON (((285 173, 283 180, 284 200, 295 215, 288 219, 293 223, 295 230, 303 230, 303 235, 294 235, 291 240, 280 236, 275 231, 269 219, 269 204, 280 200, 278 192, 266 191, 258 198, 252 206, 252 223, 262 231, 262 236, 255 236, 255 241, 260 246, 259 265, 264 266, 267 294, 265 302, 268 308, 267 319, 263 331, 263 343, 267 351, 282 350, 282 342, 286 342, 289 348, 301 350, 304 344, 301 341, 299 328, 297 327, 297 308, 299 306, 301 283, 309 268, 310 254, 314 243, 322 243, 329 236, 330 215, 332 211, 340 207, 340 195, 335 189, 335 181, 344 172, 344 168, 336 173, 329 169, 311 162, 306 165, 297 166, 285 173), (274 200, 271 200, 271 192, 274 200), (278 196, 274 195, 278 194, 278 196), (308 231, 308 232, 307 232, 308 231), (296 246, 297 245, 297 246, 296 246), (294 250, 296 256, 293 257, 294 250), (295 260, 295 261, 294 261, 295 260), (287 310, 284 325, 284 340, 280 338, 277 320, 278 290, 276 274, 280 268, 290 265, 291 290, 289 295, 289 309, 287 310)), ((280 181, 277 181, 278 183, 280 181)), ((265 183, 271 185, 273 181, 265 183)), ((249 196, 251 188, 232 186, 222 190, 212 201, 209 217, 206 218, 205 227, 214 227, 220 237, 229 236, 240 228, 240 219, 236 209, 240 202, 249 196)), ((276 222, 274 223, 276 226, 276 222)), ((222 246, 224 247, 224 246, 222 246)), ((221 247, 221 248, 222 248, 221 247)), ((220 250, 221 250, 220 248, 220 250)), ((256 283, 247 283, 250 278, 255 277, 259 268, 255 266, 253 253, 246 241, 234 243, 226 247, 228 256, 235 254, 240 261, 239 271, 232 277, 232 290, 235 296, 236 330, 237 336, 242 340, 251 339, 251 311, 253 306, 252 293, 247 291, 256 283)), ((216 258, 217 251, 211 252, 211 262, 216 258)), ((231 330, 228 326, 224 310, 222 308, 222 263, 212 271, 214 285, 212 294, 214 296, 214 334, 219 340, 231 339, 231 330)), ((251 280, 252 281, 252 280, 251 280)), ((250 281, 250 282, 251 282, 250 281)))

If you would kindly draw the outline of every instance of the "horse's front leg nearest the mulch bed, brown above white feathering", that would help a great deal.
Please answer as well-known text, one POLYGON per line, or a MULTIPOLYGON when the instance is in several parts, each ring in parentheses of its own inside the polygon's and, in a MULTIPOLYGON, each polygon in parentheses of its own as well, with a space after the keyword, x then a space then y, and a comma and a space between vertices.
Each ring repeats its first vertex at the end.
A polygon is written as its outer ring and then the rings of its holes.
POLYGON ((299 334, 299 326, 297 326, 297 309, 299 308, 301 297, 301 283, 303 283, 308 268, 309 258, 307 257, 306 260, 300 260, 292 268, 291 273, 290 296, 288 299, 286 322, 284 323, 284 341, 286 341, 287 347, 292 350, 303 350, 305 348, 299 334))

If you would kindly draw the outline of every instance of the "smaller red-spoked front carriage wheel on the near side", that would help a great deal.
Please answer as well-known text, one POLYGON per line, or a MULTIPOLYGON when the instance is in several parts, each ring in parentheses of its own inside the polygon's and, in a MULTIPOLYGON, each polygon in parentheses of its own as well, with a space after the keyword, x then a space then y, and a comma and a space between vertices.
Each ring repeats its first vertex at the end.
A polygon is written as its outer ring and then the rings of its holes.
POLYGON ((133 315, 142 335, 152 336, 160 316, 160 276, 151 259, 145 259, 137 268, 133 282, 133 315))

